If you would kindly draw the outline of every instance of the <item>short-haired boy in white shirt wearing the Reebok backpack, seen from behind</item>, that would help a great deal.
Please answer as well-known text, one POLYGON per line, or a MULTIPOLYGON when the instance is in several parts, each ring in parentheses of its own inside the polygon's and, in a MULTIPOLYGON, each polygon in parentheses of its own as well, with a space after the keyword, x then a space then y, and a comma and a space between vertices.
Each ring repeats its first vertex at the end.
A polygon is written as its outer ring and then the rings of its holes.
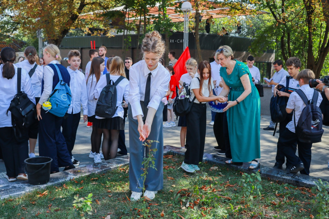
MULTIPOLYGON (((314 79, 315 75, 312 70, 304 69, 301 71, 297 80, 299 81, 300 90, 304 92, 307 99, 312 99, 314 95, 314 89, 310 88, 308 82, 310 79, 314 79)), ((317 102, 314 103, 317 106, 320 105, 322 101, 321 95, 318 96, 317 102)), ((280 135, 278 145, 282 146, 283 153, 287 157, 287 162, 292 164, 290 172, 297 173, 300 171, 301 174, 310 174, 310 164, 311 164, 311 148, 312 143, 300 142, 295 133, 295 123, 297 125, 299 117, 306 107, 302 98, 296 93, 292 92, 288 103, 286 111, 287 113, 294 113, 292 120, 287 124, 286 129, 280 135), (296 155, 296 147, 294 145, 298 144, 298 156, 296 155)))

